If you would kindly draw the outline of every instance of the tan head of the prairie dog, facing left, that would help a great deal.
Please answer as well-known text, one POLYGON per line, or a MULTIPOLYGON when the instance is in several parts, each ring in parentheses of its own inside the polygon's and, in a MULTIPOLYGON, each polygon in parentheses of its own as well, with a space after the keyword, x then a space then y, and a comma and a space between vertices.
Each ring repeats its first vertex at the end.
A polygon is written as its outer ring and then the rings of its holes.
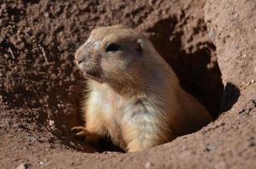
POLYGON ((92 30, 75 53, 75 61, 87 79, 109 83, 116 90, 139 88, 159 57, 144 35, 122 25, 92 30))

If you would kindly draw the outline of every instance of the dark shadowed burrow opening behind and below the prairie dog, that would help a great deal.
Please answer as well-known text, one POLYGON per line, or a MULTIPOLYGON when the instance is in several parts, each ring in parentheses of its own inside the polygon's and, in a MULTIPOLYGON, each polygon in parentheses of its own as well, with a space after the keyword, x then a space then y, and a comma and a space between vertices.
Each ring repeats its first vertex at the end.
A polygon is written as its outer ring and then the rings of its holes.
MULTIPOLYGON (((153 46, 170 64, 180 79, 181 86, 205 106, 212 117, 220 115, 223 84, 216 58, 216 47, 210 40, 202 19, 186 29, 188 19, 171 16, 160 19, 143 30, 153 46)), ((102 150, 118 150, 110 141, 100 143, 102 150)))

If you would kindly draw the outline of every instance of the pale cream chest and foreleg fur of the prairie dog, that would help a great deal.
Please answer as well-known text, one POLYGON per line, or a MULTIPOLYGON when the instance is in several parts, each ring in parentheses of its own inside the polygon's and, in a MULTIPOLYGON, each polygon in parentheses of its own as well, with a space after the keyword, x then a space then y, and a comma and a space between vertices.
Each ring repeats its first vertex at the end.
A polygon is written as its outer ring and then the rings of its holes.
POLYGON ((145 147, 165 136, 152 134, 161 128, 163 119, 153 111, 152 104, 143 100, 143 95, 122 96, 109 85, 89 81, 90 95, 86 102, 86 128, 110 136, 124 150, 130 147, 145 147), (142 133, 142 134, 140 134, 142 133), (140 138, 143 137, 143 138, 140 138), (142 141, 138 141, 142 140, 142 141), (148 140, 148 141, 145 141, 148 140))

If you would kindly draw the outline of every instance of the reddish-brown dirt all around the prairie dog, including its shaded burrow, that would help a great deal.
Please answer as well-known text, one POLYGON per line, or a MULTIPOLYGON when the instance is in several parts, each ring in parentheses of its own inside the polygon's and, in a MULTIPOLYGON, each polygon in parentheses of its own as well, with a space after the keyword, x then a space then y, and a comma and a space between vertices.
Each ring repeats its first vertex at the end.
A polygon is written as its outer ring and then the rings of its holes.
POLYGON ((0 3, 1 168, 255 168, 256 3, 253 0, 0 3), (145 32, 181 85, 216 121, 137 153, 84 145, 85 87, 74 53, 93 28, 145 32), (220 66, 220 67, 219 67, 220 66), (220 117, 218 117, 218 115, 220 117), (218 118, 217 118, 218 117, 218 118), (96 152, 97 151, 97 152, 96 152))

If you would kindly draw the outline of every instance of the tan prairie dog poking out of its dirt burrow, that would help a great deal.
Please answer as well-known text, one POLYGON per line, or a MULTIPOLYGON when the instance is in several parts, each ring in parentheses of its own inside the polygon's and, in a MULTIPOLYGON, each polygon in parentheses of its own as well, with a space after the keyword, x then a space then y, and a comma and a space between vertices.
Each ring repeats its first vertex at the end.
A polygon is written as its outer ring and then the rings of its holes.
POLYGON ((128 152, 192 133, 212 121, 146 36, 123 25, 92 30, 75 53, 87 79, 86 141, 110 136, 128 152))

